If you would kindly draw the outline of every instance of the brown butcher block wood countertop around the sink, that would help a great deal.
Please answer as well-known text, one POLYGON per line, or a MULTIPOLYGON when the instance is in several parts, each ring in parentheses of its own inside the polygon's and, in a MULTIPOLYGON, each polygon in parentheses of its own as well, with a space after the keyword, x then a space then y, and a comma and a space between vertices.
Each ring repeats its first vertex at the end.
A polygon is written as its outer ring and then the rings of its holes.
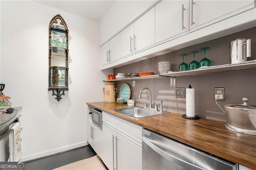
POLYGON ((210 154, 256 169, 256 135, 228 130, 224 127, 226 122, 205 118, 184 119, 179 113, 133 119, 112 111, 128 107, 126 104, 97 102, 87 105, 210 154))

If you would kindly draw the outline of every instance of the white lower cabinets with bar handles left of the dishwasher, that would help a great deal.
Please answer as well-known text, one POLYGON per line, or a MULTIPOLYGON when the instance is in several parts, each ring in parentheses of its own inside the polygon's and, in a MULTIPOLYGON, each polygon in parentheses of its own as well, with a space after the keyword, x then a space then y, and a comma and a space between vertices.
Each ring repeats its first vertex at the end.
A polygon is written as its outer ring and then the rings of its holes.
POLYGON ((109 170, 142 169, 142 127, 102 111, 102 130, 87 121, 87 142, 109 170))

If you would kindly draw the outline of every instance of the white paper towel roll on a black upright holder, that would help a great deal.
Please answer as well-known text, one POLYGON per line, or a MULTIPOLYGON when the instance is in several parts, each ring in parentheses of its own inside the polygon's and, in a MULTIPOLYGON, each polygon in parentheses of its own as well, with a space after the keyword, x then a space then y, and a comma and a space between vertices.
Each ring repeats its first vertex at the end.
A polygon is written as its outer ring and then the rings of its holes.
POLYGON ((195 89, 186 89, 186 115, 195 116, 195 89))

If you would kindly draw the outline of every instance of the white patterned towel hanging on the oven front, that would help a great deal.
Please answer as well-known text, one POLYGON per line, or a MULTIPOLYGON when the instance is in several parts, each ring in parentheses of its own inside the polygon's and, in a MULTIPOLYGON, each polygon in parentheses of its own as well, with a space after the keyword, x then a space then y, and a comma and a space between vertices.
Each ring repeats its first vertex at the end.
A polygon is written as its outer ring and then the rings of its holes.
POLYGON ((21 152, 21 144, 20 144, 20 123, 16 122, 13 126, 12 129, 14 131, 13 133, 13 155, 14 155, 14 162, 18 162, 22 156, 21 152))

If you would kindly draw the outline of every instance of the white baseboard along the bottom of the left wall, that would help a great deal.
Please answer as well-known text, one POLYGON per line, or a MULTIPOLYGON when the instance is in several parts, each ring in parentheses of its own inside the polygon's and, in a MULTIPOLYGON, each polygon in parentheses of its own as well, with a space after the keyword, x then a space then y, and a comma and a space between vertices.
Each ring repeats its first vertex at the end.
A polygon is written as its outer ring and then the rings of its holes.
POLYGON ((38 158, 43 158, 43 157, 54 155, 54 154, 57 154, 57 153, 60 153, 60 152, 72 150, 72 149, 75 149, 75 148, 80 148, 80 147, 86 146, 86 145, 88 145, 87 141, 72 144, 72 145, 68 145, 68 146, 63 146, 61 148, 55 148, 55 149, 52 149, 52 150, 46 150, 44 152, 39 152, 39 153, 31 154, 31 155, 28 155, 28 156, 22 156, 20 161, 25 162, 25 161, 38 159, 38 158))

